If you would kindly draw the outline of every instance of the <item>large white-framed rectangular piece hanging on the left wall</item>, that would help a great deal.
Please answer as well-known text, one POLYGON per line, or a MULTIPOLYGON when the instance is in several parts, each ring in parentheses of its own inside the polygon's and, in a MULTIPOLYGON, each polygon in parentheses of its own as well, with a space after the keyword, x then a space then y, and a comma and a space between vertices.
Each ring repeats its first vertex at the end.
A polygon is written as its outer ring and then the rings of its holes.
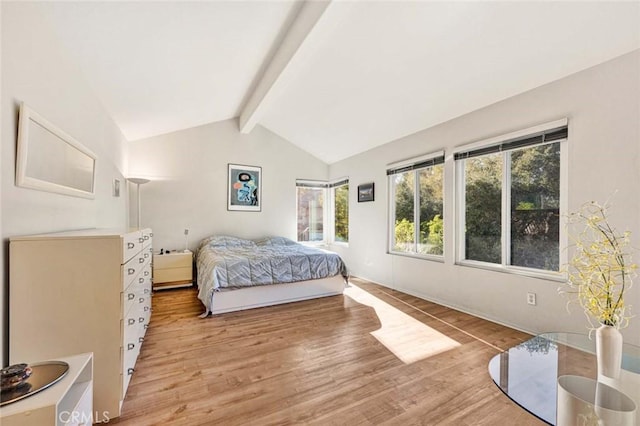
POLYGON ((95 198, 96 155, 71 135, 20 105, 16 185, 95 198))

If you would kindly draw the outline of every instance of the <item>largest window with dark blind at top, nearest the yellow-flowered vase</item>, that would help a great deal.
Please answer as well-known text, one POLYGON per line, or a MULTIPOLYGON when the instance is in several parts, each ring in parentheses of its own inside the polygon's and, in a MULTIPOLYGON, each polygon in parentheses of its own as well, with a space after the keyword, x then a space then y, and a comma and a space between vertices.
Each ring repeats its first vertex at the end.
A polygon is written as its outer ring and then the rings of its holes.
POLYGON ((460 261, 558 271, 567 127, 458 152, 460 261))

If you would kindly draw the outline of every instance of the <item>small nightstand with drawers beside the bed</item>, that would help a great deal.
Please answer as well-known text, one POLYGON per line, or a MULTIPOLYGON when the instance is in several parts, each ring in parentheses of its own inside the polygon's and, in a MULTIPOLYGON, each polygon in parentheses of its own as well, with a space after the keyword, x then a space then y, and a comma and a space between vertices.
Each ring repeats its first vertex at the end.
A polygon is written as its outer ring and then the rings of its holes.
POLYGON ((153 289, 188 287, 193 284, 193 253, 172 251, 153 255, 153 289))

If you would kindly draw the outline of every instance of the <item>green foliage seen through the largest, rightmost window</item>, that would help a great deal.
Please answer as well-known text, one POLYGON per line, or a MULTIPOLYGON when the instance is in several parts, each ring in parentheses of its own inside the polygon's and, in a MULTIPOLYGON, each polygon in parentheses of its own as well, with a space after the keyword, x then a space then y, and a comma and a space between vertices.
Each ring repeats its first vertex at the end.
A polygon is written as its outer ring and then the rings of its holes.
MULTIPOLYGON (((560 144, 509 153, 511 264, 558 270, 560 144)), ((466 258, 502 263, 503 154, 465 160, 466 258)))

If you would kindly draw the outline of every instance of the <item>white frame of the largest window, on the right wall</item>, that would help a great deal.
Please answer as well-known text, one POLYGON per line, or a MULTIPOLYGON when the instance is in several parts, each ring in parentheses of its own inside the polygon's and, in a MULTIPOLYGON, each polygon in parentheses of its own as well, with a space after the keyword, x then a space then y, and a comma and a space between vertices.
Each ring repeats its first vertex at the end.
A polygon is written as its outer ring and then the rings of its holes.
MULTIPOLYGON (((463 145, 454 150, 453 154, 463 151, 472 151, 475 149, 489 147, 497 145, 501 142, 511 139, 517 139, 520 137, 526 137, 528 135, 532 135, 539 132, 544 132, 547 130, 559 128, 559 127, 568 127, 568 120, 561 119, 556 120, 550 123, 541 124, 539 126, 530 127, 527 129, 523 129, 517 132, 512 132, 509 134, 493 137, 490 139, 485 139, 482 141, 474 142, 468 145, 463 145)), ((534 146, 542 146, 551 143, 559 143, 560 144, 560 199, 559 199, 559 216, 560 216, 560 226, 559 226, 559 235, 558 235, 558 244, 560 247, 559 250, 559 271, 549 271, 544 269, 535 269, 535 268, 527 268, 523 266, 510 265, 511 263, 511 250, 510 250, 510 241, 511 241, 511 155, 510 152, 513 150, 502 151, 502 211, 501 211, 501 235, 500 235, 500 243, 501 243, 501 263, 491 263, 480 260, 472 260, 465 258, 465 249, 466 249, 466 241, 465 241, 465 214, 466 214, 466 186, 465 186, 465 161, 462 160, 454 160, 455 173, 454 173, 454 191, 455 191, 455 263, 456 265, 462 266, 470 266, 481 269, 489 269, 493 271, 524 275, 533 278, 542 278, 553 281, 564 281, 566 279, 566 273, 562 272, 562 265, 567 263, 567 253, 566 250, 562 250, 562 247, 566 247, 568 242, 568 236, 566 231, 566 226, 563 218, 567 216, 567 206, 568 206, 568 147, 567 142, 569 138, 554 140, 550 142, 542 142, 535 145, 530 145, 530 147, 534 146)))

